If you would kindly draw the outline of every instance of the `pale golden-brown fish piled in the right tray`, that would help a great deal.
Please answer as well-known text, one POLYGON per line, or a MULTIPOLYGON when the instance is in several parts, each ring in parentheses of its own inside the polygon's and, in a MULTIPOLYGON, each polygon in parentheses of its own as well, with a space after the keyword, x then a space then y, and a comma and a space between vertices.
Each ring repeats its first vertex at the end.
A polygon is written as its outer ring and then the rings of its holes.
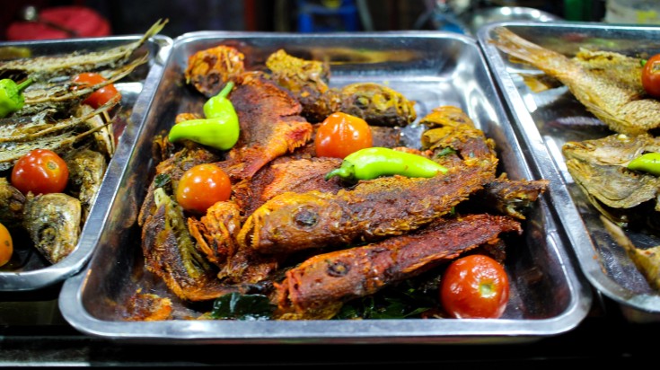
MULTIPOLYGON (((568 87, 585 109, 610 129, 607 137, 570 141, 562 147, 568 172, 613 230, 632 223, 660 233, 660 101, 647 93, 645 60, 612 51, 581 49, 575 57, 542 48, 506 27, 493 44, 518 62, 534 66, 568 87)), ((537 84, 538 86, 538 84, 537 84)), ((622 240, 618 230, 614 238, 622 240)), ((660 246, 646 250, 620 242, 650 286, 660 290, 660 246)))

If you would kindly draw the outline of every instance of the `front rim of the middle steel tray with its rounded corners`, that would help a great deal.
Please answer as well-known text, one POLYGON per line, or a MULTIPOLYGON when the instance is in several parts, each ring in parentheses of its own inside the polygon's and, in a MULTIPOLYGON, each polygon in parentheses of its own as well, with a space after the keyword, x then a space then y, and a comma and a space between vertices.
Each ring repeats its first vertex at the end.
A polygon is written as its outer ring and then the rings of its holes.
POLYGON ((69 278, 59 295, 60 311, 76 330, 95 337, 114 340, 240 341, 242 343, 286 340, 356 343, 377 339, 404 343, 428 341, 443 343, 451 338, 491 338, 501 341, 528 341, 558 335, 574 329, 585 317, 590 299, 573 299, 567 312, 548 319, 462 319, 462 320, 359 320, 359 321, 164 321, 108 322, 84 310, 80 294, 86 274, 69 278), (578 302, 579 301, 579 302, 578 302), (74 313, 77 313, 76 316, 74 313), (79 313, 83 313, 80 315, 79 313), (119 334, 120 333, 120 334, 119 334))

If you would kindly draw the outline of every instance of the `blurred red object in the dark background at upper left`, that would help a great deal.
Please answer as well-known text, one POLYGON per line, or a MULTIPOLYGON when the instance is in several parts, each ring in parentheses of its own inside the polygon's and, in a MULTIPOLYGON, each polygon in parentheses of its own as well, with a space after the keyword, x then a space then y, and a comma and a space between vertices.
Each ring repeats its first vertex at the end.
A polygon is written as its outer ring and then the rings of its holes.
POLYGON ((101 14, 84 6, 56 6, 40 11, 40 20, 75 31, 71 35, 43 22, 13 22, 7 28, 7 40, 49 40, 110 35, 110 23, 101 14))

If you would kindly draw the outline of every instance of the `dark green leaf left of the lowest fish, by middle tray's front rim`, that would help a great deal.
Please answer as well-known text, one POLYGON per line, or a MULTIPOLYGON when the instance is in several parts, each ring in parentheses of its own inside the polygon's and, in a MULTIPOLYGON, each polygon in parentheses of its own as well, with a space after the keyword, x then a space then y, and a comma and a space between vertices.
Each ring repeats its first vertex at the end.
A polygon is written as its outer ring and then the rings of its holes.
POLYGON ((222 295, 213 303, 214 319, 269 320, 275 311, 266 295, 222 295))

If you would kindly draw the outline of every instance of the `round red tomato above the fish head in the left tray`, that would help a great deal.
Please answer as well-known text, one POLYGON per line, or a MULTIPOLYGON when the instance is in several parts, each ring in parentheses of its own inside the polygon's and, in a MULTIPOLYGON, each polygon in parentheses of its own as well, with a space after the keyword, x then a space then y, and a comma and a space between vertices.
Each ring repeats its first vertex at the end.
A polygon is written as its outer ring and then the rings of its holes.
POLYGON ((12 185, 23 194, 60 193, 66 188, 69 169, 57 153, 35 149, 13 165, 12 185))

